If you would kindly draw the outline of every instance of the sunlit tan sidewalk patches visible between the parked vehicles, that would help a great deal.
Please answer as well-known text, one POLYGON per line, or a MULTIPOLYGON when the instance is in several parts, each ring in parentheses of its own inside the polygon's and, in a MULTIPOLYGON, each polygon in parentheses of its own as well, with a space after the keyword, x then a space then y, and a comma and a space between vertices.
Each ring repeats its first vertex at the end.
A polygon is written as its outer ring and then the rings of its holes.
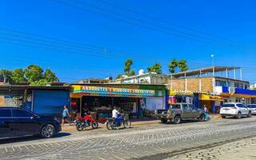
MULTIPOLYGON (((221 118, 220 114, 210 114, 210 119, 218 119, 221 118)), ((146 126, 146 125, 158 125, 160 123, 159 119, 135 119, 135 120, 131 120, 132 122, 132 126, 146 126)), ((98 127, 99 128, 106 128, 105 124, 102 123, 98 123, 98 127)), ((62 126, 62 131, 66 131, 66 132, 72 132, 72 131, 76 131, 74 124, 72 124, 72 126, 69 126, 69 124, 65 124, 64 126, 62 126)))

